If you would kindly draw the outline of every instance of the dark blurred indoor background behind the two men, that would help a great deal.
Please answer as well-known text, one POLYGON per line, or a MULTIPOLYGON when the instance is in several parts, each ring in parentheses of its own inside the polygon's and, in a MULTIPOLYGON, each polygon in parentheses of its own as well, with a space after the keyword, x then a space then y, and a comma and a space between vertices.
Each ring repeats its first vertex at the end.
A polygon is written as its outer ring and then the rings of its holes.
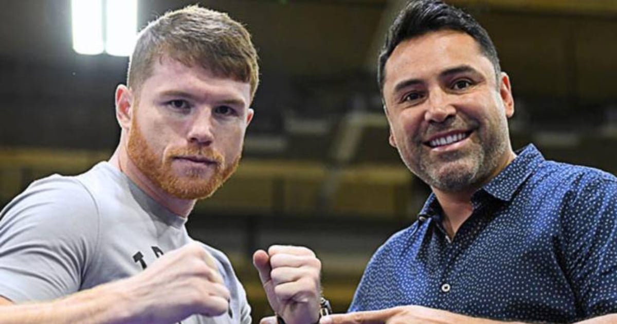
MULTIPOLYGON (((510 74, 515 148, 617 173, 617 0, 450 0, 489 31, 510 74)), ((429 193, 387 144, 376 57, 397 0, 138 0, 137 25, 188 4, 252 33, 262 81, 244 159, 189 217, 225 251, 254 318, 271 314, 251 265, 273 243, 312 247, 346 310, 375 249, 429 193)), ((0 206, 32 180, 107 159, 128 58, 73 51, 69 0, 0 0, 0 206)))

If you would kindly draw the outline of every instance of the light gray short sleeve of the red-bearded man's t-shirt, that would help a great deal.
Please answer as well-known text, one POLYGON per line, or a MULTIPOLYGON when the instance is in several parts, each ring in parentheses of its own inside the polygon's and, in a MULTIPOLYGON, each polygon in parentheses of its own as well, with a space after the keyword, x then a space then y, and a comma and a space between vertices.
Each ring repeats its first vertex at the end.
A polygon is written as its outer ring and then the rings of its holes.
POLYGON ((30 185, 0 213, 0 296, 44 301, 78 291, 97 219, 93 198, 74 178, 30 185))

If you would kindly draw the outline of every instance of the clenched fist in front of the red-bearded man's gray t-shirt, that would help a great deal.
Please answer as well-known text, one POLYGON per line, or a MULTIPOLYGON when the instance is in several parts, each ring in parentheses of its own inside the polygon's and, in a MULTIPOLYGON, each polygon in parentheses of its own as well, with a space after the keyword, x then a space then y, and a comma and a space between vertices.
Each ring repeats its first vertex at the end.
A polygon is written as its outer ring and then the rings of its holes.
MULTIPOLYGON (((230 291, 217 261, 199 243, 189 243, 157 259, 144 272, 118 281, 130 296, 139 323, 177 323, 194 314, 228 312, 230 291)), ((132 322, 132 321, 131 321, 132 322)))

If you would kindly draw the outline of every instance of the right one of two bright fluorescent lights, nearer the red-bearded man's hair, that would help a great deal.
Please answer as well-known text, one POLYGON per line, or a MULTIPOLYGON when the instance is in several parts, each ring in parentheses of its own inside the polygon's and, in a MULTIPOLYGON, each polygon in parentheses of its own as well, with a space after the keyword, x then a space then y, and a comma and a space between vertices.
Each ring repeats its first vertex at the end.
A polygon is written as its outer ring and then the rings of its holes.
POLYGON ((107 54, 130 56, 137 35, 137 0, 107 0, 106 31, 107 54))

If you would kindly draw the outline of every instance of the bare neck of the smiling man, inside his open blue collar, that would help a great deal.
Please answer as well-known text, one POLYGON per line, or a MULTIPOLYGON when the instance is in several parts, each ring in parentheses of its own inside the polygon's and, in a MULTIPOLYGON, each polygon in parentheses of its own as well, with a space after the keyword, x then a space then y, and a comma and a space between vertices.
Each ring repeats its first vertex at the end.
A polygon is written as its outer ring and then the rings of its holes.
POLYGON ((431 187, 433 193, 437 197, 437 201, 441 205, 441 209, 444 212, 443 225, 450 239, 454 238, 460 226, 465 223, 467 218, 473 213, 473 207, 471 206, 471 196, 486 185, 493 178, 502 172, 502 170, 512 162, 516 157, 516 154, 508 150, 508 154, 504 157, 503 162, 499 167, 495 168, 489 177, 484 181, 470 185, 459 191, 443 191, 437 188, 431 187))

